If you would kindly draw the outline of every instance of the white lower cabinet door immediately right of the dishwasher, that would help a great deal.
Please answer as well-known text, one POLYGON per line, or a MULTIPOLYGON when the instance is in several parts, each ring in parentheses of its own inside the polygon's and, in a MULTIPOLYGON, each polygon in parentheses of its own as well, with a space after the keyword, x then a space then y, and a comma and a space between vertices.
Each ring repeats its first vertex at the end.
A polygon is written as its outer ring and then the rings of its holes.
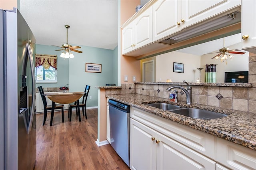
POLYGON ((130 169, 156 169, 156 131, 130 119, 130 169))

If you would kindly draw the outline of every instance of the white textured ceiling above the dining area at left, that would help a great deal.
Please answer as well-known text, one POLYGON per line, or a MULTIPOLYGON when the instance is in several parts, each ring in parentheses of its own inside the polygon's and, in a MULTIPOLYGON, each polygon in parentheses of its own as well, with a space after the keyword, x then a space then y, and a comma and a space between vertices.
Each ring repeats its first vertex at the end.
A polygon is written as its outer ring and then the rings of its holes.
MULTIPOLYGON (((117 0, 20 0, 36 43, 68 43, 104 49, 117 46, 117 0)), ((58 48, 58 47, 57 47, 58 48)))

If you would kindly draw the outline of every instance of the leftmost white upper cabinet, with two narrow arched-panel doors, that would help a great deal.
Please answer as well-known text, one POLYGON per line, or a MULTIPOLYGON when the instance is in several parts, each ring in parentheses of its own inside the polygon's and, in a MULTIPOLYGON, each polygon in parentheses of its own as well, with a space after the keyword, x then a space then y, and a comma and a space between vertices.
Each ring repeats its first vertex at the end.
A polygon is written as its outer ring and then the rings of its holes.
POLYGON ((152 43, 152 7, 122 30, 122 54, 152 43))

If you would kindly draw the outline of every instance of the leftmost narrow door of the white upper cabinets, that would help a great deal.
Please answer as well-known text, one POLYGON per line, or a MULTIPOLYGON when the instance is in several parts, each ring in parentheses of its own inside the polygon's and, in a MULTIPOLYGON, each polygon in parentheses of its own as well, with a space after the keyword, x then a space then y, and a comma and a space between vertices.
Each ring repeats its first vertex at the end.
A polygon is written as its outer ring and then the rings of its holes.
POLYGON ((134 29, 133 22, 122 29, 122 54, 133 50, 134 29))

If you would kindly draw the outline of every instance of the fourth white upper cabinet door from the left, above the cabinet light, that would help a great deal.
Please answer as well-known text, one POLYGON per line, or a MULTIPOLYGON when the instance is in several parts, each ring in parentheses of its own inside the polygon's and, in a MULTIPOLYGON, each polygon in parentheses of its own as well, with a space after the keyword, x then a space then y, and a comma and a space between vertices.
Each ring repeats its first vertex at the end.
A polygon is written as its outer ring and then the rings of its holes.
MULTIPOLYGON (((182 28, 241 5, 241 0, 182 0, 182 28)), ((244 11, 243 11, 244 12, 244 11)))

